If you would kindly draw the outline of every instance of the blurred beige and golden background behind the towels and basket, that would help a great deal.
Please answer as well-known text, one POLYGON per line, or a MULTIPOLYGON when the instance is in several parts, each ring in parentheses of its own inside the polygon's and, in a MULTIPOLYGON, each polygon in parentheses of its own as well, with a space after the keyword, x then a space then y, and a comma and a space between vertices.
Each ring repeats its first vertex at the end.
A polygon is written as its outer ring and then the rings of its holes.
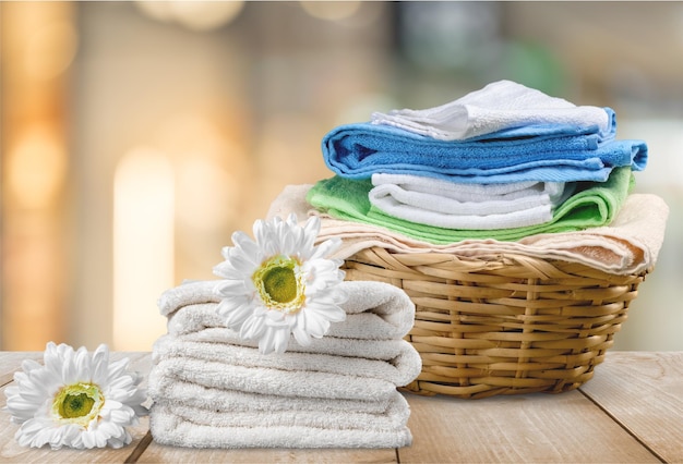
POLYGON ((0 2, 0 349, 151 350, 320 142, 508 78, 616 111, 671 215, 614 350, 683 350, 683 3, 0 2))

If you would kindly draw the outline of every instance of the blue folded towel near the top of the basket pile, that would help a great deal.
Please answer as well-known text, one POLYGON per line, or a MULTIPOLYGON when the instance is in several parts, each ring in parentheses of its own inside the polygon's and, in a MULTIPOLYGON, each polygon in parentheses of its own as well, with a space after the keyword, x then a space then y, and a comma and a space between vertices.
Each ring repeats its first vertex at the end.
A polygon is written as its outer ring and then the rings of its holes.
POLYGON ((323 159, 337 175, 426 175, 463 183, 604 182, 615 167, 642 171, 643 141, 618 141, 597 126, 544 124, 466 141, 438 141, 383 124, 340 125, 323 137, 323 159))

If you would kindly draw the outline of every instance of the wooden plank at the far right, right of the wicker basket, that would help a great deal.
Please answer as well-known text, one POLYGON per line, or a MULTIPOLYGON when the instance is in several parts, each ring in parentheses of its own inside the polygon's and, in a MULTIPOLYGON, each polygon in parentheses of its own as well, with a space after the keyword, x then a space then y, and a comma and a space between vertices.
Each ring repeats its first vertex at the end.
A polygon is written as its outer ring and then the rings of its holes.
POLYGON ((667 462, 683 462, 683 352, 611 352, 580 389, 667 462))

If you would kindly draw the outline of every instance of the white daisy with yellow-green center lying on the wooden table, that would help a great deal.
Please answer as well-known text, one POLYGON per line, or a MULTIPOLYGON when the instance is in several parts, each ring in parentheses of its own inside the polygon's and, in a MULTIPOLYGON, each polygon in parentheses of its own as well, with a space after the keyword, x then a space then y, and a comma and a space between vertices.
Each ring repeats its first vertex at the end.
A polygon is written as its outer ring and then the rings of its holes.
POLYGON ((132 440, 125 427, 146 414, 142 377, 128 373, 129 359, 109 364, 101 344, 93 355, 85 347, 49 342, 44 365, 25 359, 23 371, 4 391, 11 422, 21 425, 14 438, 22 447, 53 450, 121 448, 132 440))

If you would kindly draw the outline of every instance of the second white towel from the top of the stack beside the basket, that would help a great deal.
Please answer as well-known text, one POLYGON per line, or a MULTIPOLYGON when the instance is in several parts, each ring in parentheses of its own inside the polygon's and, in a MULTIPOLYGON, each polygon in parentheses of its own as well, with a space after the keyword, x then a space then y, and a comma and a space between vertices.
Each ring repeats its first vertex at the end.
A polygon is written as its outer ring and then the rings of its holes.
MULTIPOLYGON (((362 344, 362 341, 359 341, 362 344)), ((264 356, 259 350, 227 343, 199 342, 185 337, 164 335, 159 338, 152 353, 155 363, 163 359, 192 358, 223 363, 229 367, 242 366, 273 371, 335 374, 351 377, 381 379, 403 387, 420 374, 420 358, 417 351, 404 342, 403 351, 391 359, 349 357, 322 353, 286 353, 264 356)))

